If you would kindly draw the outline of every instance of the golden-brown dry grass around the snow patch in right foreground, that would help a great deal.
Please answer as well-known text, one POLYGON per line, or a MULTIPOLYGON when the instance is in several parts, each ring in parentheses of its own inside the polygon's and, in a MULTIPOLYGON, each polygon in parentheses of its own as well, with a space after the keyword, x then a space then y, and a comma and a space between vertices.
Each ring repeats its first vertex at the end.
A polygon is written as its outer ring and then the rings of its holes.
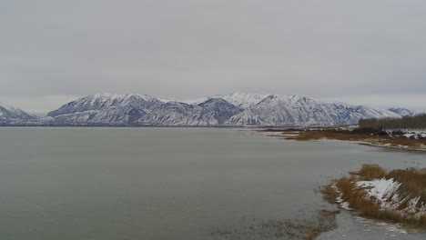
MULTIPOLYGON (((355 209, 360 215, 404 225, 426 226, 426 214, 415 215, 415 213, 401 211, 407 207, 411 199, 417 197, 421 199, 416 205, 417 210, 420 210, 423 203, 426 203, 426 170, 424 169, 410 168, 388 172, 379 165, 363 165, 359 172, 337 179, 334 185, 340 192, 341 200, 347 202, 350 208, 355 209), (397 189, 401 200, 398 209, 383 209, 378 199, 367 197, 368 189, 356 184, 357 181, 370 181, 380 178, 392 178, 401 183, 397 189)), ((324 191, 323 194, 329 195, 327 198, 335 195, 330 195, 329 191, 324 191)), ((391 196, 389 199, 391 199, 391 196)))

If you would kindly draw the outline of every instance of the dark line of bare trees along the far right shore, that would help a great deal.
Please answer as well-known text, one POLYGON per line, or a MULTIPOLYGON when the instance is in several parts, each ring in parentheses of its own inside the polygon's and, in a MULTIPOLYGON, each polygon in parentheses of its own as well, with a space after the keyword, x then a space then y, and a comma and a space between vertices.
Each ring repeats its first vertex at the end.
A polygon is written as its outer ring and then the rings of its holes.
POLYGON ((359 125, 371 129, 426 129, 426 115, 360 119, 359 125))

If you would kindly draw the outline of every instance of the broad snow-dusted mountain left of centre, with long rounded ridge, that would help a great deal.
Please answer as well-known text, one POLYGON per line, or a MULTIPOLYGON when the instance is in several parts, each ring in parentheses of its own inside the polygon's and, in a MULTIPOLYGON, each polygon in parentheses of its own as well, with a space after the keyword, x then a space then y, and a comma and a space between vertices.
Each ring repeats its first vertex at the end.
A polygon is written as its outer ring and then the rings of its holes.
POLYGON ((40 119, 46 125, 223 125, 241 110, 221 98, 199 105, 148 95, 89 95, 40 119))

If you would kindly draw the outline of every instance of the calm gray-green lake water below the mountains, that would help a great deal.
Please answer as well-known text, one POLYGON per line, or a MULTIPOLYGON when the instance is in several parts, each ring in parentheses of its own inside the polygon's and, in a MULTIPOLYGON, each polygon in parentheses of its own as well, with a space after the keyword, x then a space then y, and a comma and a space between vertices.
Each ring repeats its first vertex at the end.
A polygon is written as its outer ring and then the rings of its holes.
MULTIPOLYGON (((332 207, 315 190, 363 164, 426 155, 240 129, 2 127, 1 239, 228 239, 216 233, 332 207)), ((426 237, 365 220, 344 212, 320 239, 426 237)))

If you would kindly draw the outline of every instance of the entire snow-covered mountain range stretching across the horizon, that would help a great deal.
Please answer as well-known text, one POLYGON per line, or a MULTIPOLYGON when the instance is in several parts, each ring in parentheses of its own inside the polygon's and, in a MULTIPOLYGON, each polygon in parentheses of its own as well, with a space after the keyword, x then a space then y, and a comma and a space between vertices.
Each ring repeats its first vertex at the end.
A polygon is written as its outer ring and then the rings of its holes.
POLYGON ((150 126, 321 126, 352 125, 361 118, 415 115, 409 109, 326 103, 299 95, 234 92, 187 101, 149 95, 88 95, 62 105, 46 117, 0 104, 2 125, 150 126))

